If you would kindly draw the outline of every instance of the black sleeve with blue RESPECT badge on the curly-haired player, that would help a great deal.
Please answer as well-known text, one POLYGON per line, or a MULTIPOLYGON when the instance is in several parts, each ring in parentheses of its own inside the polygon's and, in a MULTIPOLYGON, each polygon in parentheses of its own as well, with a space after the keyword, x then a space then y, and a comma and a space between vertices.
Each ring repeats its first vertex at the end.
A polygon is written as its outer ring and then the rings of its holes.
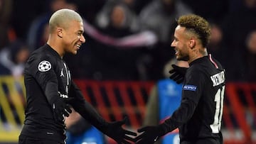
POLYGON ((163 123, 165 133, 178 128, 178 126, 186 123, 193 116, 203 91, 205 79, 205 74, 198 68, 187 71, 182 86, 181 105, 163 123))

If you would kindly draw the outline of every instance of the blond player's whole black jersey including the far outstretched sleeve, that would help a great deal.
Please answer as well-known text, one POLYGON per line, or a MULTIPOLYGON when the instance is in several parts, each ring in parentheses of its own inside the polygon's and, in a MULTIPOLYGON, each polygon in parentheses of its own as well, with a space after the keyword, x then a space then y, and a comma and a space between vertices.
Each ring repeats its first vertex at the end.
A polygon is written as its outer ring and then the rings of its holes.
POLYGON ((89 123, 103 131, 107 122, 82 96, 82 92, 71 80, 70 71, 58 52, 43 45, 35 50, 26 63, 24 71, 26 87, 26 118, 21 135, 46 138, 65 143, 65 124, 55 121, 54 99, 74 98, 69 101, 75 111, 89 123))

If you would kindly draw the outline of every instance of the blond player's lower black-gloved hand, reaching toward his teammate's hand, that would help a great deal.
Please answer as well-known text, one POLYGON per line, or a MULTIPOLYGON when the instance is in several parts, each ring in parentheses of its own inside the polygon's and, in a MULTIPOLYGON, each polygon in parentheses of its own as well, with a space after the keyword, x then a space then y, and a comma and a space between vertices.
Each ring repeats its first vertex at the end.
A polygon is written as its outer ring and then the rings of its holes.
POLYGON ((134 138, 131 136, 137 136, 137 133, 127 131, 122 128, 122 125, 124 125, 126 121, 127 118, 124 118, 122 121, 114 121, 112 123, 108 123, 104 133, 119 144, 131 144, 129 141, 134 141, 134 138))

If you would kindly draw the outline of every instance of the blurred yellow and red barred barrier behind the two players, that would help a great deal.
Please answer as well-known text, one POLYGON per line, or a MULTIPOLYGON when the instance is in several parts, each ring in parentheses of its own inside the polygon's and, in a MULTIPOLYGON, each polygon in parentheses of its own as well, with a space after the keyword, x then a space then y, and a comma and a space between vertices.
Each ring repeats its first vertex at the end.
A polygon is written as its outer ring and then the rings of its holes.
MULTIPOLYGON (((127 128, 142 126, 146 101, 154 82, 94 81, 75 79, 85 99, 108 121, 128 116, 127 128)), ((0 77, 0 143, 17 143, 24 120, 25 89, 23 79, 0 77)), ((256 142, 256 84, 228 83, 223 113, 225 144, 256 142)), ((113 143, 108 139, 109 143, 113 143)))

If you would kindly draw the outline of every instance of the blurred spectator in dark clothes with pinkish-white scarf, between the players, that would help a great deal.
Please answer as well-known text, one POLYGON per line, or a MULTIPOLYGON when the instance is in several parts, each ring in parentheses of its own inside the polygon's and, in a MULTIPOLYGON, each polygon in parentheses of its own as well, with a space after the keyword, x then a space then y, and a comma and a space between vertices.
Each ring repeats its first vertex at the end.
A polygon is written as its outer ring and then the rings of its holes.
POLYGON ((77 67, 73 65, 73 70, 77 71, 73 71, 74 75, 99 80, 139 79, 136 64, 144 50, 144 45, 140 44, 145 42, 148 35, 145 36, 143 33, 137 35, 132 31, 127 21, 129 12, 127 13, 126 10, 127 6, 123 3, 110 6, 110 13, 106 15, 109 22, 107 26, 99 28, 99 31, 85 22, 85 35, 88 34, 88 37, 85 36, 87 43, 82 51, 86 52, 78 53, 81 59, 78 61, 81 63, 77 67), (81 65, 84 70, 78 68, 81 65))

